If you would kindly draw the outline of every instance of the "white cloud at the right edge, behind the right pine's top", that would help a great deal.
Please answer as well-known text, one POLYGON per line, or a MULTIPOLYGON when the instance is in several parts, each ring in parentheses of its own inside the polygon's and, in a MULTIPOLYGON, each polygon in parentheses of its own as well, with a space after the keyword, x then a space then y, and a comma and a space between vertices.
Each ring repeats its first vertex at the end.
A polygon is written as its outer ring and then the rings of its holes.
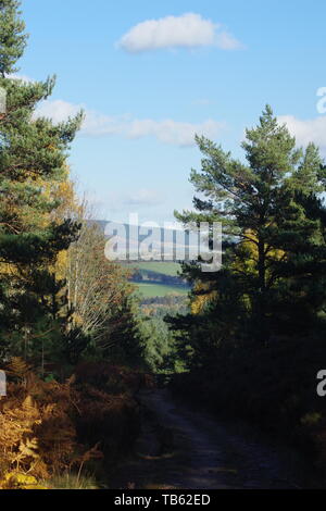
POLYGON ((278 121, 286 124, 291 135, 296 136, 298 146, 305 147, 314 142, 323 152, 326 151, 326 116, 304 121, 294 115, 281 115, 278 121))

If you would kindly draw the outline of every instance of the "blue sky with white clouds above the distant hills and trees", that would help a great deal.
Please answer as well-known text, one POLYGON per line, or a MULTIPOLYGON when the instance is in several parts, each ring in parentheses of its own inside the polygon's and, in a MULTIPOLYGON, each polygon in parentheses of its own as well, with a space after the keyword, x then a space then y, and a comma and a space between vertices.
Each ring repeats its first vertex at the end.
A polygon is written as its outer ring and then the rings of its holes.
POLYGON ((99 217, 171 222, 191 208, 195 134, 242 159, 266 103, 299 146, 326 155, 325 0, 23 0, 22 10, 30 36, 18 74, 57 75, 40 115, 84 109, 70 164, 99 217))

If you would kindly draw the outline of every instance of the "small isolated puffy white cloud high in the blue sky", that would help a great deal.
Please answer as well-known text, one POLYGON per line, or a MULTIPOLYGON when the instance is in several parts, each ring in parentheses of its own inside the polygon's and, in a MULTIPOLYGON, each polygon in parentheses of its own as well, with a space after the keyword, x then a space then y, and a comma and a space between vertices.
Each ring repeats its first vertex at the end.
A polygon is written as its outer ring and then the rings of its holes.
POLYGON ((242 47, 220 24, 214 24, 211 20, 204 20, 195 13, 147 20, 130 28, 120 39, 117 46, 129 53, 178 47, 217 46, 223 50, 242 47))

